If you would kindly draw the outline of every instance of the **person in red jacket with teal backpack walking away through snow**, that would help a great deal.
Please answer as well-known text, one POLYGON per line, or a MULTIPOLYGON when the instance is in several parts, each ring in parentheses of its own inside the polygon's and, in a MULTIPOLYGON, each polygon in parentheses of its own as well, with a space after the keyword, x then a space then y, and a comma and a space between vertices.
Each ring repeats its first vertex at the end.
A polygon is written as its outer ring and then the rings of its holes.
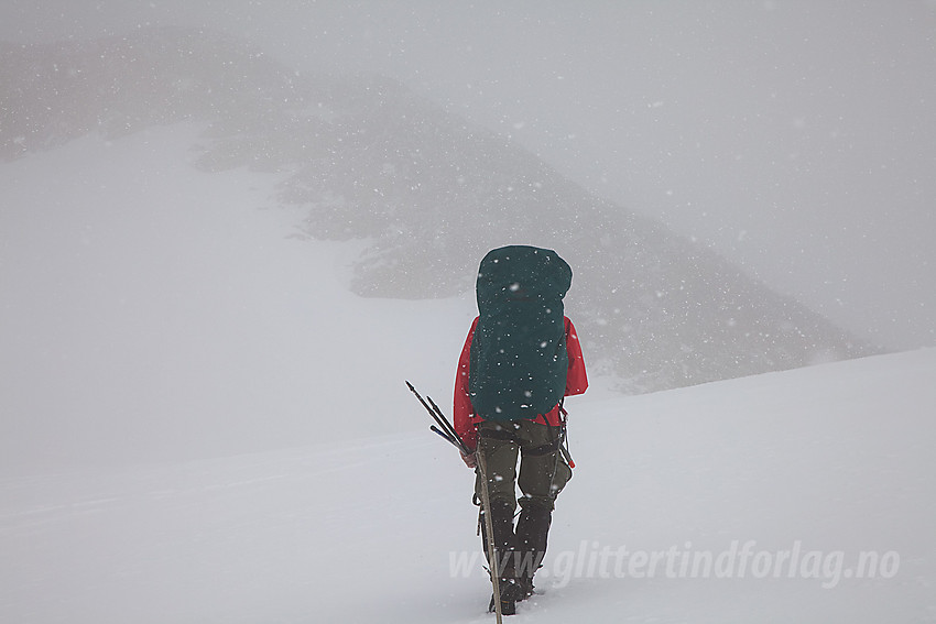
MULTIPOLYGON (((503 614, 532 595, 556 496, 572 478, 560 452, 563 399, 584 393, 588 380, 563 308, 570 285, 572 269, 555 251, 512 245, 489 252, 478 270, 479 316, 458 361, 455 430, 474 451, 461 456, 469 468, 477 466, 477 453, 486 460, 503 614)), ((480 474, 475 496, 482 500, 480 474)), ((487 543, 486 523, 480 525, 487 543)))

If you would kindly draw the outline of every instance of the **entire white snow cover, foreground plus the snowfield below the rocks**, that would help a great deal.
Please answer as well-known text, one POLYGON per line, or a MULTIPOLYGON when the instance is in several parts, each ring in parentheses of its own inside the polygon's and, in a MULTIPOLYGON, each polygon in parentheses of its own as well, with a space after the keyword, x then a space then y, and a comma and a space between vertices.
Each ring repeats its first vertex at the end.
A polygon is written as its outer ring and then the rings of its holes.
MULTIPOLYGON (((472 474, 403 384, 448 404, 470 293, 348 294, 352 243, 191 131, 0 166, 0 622, 492 621, 472 474)), ((935 376, 595 380, 512 620, 936 621, 935 376)))

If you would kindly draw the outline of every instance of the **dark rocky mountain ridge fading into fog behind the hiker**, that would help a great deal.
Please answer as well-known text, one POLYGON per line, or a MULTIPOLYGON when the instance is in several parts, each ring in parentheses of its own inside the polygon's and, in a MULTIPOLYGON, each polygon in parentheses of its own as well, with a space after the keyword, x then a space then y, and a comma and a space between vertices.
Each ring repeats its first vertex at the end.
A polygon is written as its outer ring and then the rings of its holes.
POLYGON ((556 249, 589 364, 651 392, 879 352, 711 250, 605 201, 547 163, 373 74, 292 72, 203 30, 0 46, 0 157, 88 132, 199 121, 205 172, 284 175, 302 231, 364 240, 350 289, 440 298, 501 244, 556 249))

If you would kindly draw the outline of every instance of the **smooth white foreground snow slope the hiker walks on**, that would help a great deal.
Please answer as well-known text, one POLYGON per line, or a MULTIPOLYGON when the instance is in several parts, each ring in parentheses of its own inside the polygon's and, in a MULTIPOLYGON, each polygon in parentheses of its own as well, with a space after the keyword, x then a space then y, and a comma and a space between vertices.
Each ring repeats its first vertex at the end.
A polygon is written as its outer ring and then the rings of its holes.
MULTIPOLYGON (((934 370, 930 350, 575 402, 551 576, 515 621, 934 621, 934 370), (801 543, 821 563, 791 579, 595 562, 750 540, 801 543), (890 561, 879 578, 847 578, 861 551, 890 561)), ((478 551, 471 474, 424 423, 394 417, 392 436, 3 480, 0 617, 491 621, 480 568, 450 568, 478 551)))

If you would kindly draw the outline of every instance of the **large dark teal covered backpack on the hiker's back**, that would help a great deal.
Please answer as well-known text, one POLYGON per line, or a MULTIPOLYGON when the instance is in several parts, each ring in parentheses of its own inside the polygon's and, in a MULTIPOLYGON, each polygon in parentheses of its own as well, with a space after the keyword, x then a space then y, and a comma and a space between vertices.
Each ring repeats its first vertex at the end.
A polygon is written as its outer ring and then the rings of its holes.
POLYGON ((572 269, 553 250, 511 245, 481 261, 468 375, 471 406, 481 418, 533 419, 563 398, 563 297, 569 286, 572 269))

